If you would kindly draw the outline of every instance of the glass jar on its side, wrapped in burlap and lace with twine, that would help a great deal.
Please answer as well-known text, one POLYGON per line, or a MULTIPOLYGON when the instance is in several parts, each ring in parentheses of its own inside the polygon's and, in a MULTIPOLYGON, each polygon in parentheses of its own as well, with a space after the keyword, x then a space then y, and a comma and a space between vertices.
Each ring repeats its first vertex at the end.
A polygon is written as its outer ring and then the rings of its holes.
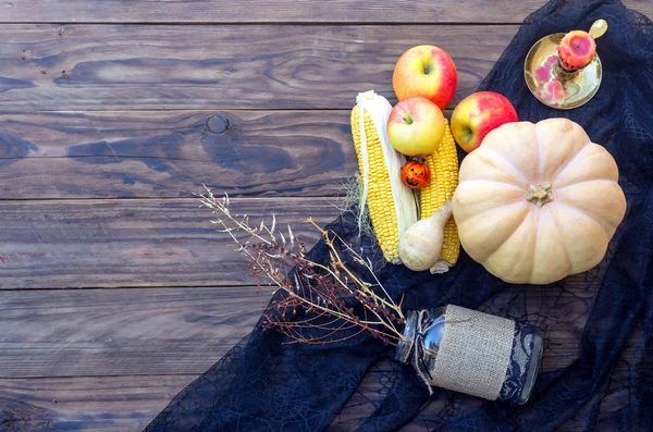
POLYGON ((408 311, 395 359, 433 386, 525 404, 542 359, 540 329, 448 305, 408 311))

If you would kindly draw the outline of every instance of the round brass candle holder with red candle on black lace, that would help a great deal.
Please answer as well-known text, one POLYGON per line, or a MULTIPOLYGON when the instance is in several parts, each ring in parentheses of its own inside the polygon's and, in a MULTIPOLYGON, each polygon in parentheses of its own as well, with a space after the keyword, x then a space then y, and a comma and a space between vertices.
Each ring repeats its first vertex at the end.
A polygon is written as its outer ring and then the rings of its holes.
POLYGON ((555 33, 538 40, 523 63, 523 76, 533 96, 560 110, 578 108, 592 99, 603 73, 594 39, 606 30, 607 22, 599 20, 589 34, 555 33))

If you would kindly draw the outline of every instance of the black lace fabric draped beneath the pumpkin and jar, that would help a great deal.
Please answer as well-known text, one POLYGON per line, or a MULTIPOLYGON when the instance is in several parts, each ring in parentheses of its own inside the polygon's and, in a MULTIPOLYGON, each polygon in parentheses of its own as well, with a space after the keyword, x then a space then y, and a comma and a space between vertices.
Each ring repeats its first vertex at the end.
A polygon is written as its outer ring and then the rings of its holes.
MULTIPOLYGON (((433 40, 438 42, 436 38, 433 40)), ((541 373, 523 406, 436 390, 429 397, 394 348, 361 334, 326 345, 252 333, 180 393, 155 431, 651 431, 653 430, 653 25, 616 0, 551 1, 531 14, 480 89, 505 95, 520 120, 566 116, 614 156, 626 218, 595 269, 546 285, 512 285, 465 254, 447 273, 384 266, 378 275, 406 309, 454 304, 545 331, 541 373), (559 111, 523 81, 529 48, 551 33, 608 32, 597 41, 604 76, 586 106, 559 111)), ((463 155, 460 155, 463 156, 463 155)), ((381 262, 355 217, 329 227, 381 262)), ((325 261, 324 244, 311 250, 325 261)), ((246 271, 245 267, 243 271, 246 271)))

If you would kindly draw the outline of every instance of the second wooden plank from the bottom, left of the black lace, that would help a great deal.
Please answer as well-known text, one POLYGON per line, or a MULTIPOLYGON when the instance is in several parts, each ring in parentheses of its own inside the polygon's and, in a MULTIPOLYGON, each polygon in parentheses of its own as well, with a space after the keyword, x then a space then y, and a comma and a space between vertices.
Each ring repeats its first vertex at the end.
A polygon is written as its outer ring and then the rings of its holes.
POLYGON ((256 286, 3 291, 0 378, 199 374, 269 298, 256 286))

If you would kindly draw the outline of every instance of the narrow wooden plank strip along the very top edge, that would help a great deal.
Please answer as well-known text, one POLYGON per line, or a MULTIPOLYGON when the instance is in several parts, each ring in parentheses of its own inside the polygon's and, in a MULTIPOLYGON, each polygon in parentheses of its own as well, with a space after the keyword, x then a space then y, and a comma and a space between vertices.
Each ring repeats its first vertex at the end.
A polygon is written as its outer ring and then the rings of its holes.
MULTIPOLYGON (((0 22, 94 23, 514 23, 545 0, 11 0, 0 3, 0 22)), ((625 0, 653 16, 646 0, 625 0)))

